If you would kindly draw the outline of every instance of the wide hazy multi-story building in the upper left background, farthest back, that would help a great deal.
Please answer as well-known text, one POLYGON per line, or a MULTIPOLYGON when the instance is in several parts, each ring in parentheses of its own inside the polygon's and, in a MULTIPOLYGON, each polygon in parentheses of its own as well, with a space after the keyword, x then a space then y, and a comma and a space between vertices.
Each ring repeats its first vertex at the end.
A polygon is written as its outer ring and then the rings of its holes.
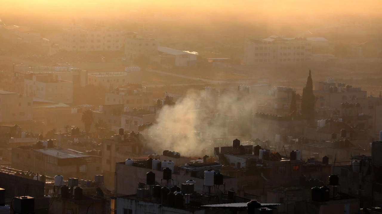
POLYGON ((123 33, 107 27, 83 29, 72 24, 63 29, 61 48, 67 51, 119 51, 123 46, 123 33))

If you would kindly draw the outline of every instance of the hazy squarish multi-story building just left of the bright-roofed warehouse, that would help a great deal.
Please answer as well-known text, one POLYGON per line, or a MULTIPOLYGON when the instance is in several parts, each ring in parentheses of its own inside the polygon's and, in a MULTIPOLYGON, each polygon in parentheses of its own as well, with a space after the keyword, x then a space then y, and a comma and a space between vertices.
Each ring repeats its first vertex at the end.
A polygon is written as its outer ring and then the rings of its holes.
POLYGON ((158 40, 130 33, 125 38, 125 57, 131 59, 141 55, 156 55, 158 53, 158 46, 158 40))

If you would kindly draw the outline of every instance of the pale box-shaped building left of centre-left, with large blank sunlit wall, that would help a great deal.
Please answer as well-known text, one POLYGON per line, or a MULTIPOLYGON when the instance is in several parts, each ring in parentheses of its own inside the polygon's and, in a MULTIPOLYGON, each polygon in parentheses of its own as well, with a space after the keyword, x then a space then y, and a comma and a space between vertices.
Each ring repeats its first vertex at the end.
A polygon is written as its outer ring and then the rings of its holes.
POLYGON ((53 73, 29 73, 24 78, 24 92, 58 103, 73 102, 73 82, 55 77, 53 73))

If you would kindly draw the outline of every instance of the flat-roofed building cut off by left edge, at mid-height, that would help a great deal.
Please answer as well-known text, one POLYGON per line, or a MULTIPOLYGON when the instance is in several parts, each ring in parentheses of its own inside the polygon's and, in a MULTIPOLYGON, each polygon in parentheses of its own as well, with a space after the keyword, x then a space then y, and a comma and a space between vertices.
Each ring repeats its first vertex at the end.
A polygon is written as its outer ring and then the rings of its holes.
POLYGON ((32 97, 0 90, 0 123, 32 120, 32 97))

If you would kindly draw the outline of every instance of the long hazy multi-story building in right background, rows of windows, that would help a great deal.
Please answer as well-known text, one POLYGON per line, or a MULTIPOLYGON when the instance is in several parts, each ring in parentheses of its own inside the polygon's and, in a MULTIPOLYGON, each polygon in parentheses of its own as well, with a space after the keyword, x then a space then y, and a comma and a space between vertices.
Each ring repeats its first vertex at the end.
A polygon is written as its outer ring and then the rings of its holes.
POLYGON ((272 35, 262 40, 247 40, 245 43, 247 65, 301 63, 309 60, 311 54, 311 41, 305 37, 272 35))

